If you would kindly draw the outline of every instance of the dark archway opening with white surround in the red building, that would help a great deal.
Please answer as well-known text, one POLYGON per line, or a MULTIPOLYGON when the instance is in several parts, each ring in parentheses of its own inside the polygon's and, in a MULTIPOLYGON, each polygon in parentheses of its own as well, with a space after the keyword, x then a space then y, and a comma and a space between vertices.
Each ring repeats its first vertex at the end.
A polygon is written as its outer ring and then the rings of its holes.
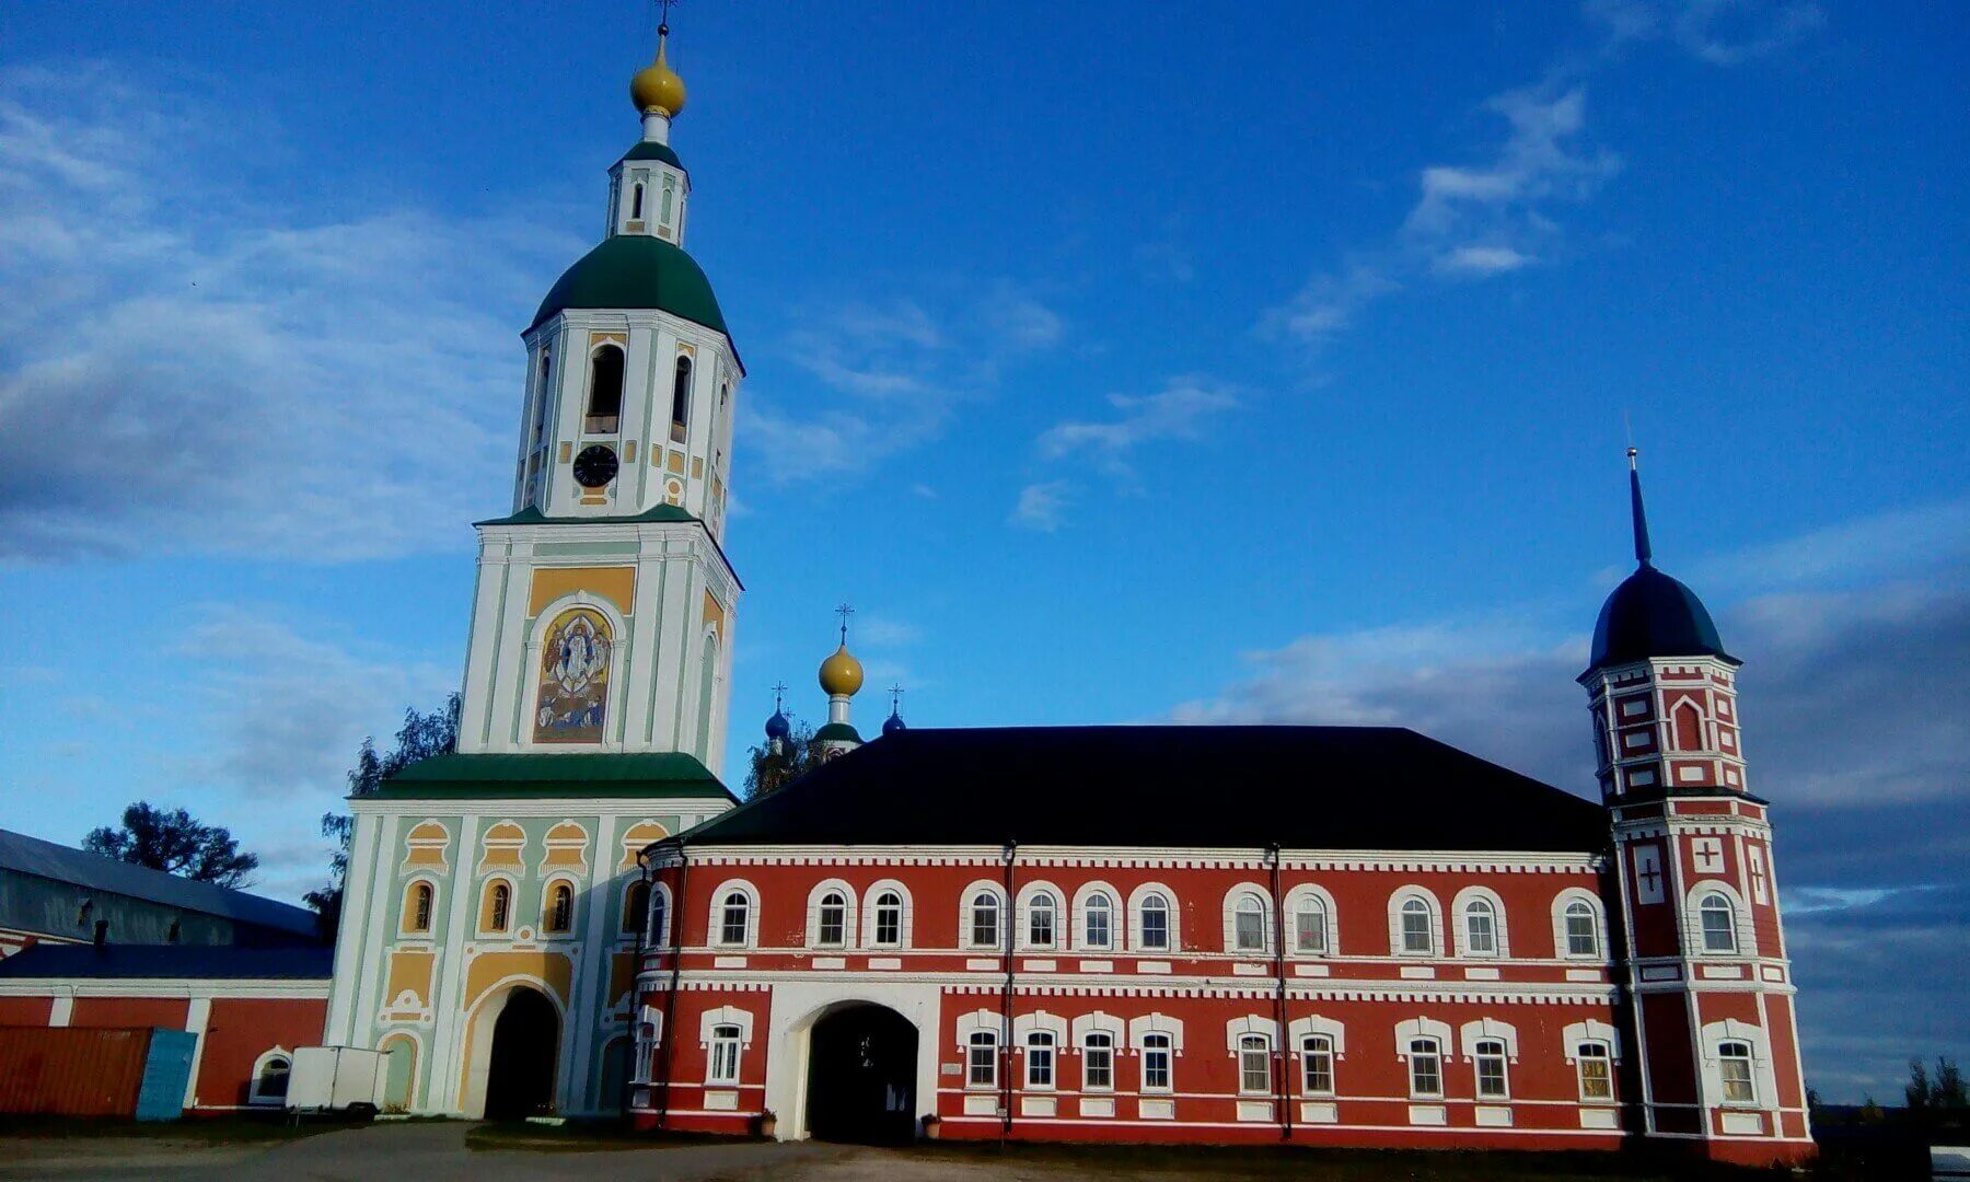
POLYGON ((814 1024, 808 1133, 898 1145, 916 1137, 916 1026, 881 1005, 851 1005, 814 1024))

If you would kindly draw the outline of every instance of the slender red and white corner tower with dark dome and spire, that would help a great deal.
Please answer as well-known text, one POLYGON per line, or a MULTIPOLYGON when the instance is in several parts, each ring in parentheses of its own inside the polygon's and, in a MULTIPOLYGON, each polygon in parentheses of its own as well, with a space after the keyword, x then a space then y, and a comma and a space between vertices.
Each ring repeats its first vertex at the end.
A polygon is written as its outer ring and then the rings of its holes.
POLYGON ((1696 595, 1655 569, 1629 449, 1637 567, 1594 624, 1602 800, 1625 916, 1643 1133, 1706 1156, 1812 1156, 1771 820, 1751 796, 1738 658, 1696 595))

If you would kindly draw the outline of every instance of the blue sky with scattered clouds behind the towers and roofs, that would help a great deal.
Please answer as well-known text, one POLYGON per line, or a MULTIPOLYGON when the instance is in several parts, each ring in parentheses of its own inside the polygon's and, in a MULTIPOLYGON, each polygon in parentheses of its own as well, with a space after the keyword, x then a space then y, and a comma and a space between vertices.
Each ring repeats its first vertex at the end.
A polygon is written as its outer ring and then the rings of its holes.
MULTIPOLYGON (((457 682, 648 24, 0 12, 8 827, 179 802, 319 881, 355 745, 457 682)), ((776 680, 821 713, 849 599, 914 725, 1403 723, 1582 790, 1631 429, 1747 660, 1808 1074, 1964 1052, 1966 26, 686 4, 751 368, 733 758, 776 680)))

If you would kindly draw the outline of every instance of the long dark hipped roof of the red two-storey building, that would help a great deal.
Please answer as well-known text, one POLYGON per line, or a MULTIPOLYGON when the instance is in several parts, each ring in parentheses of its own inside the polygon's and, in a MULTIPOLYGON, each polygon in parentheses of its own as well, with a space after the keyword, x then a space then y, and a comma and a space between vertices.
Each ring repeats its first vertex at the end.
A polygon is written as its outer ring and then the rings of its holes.
POLYGON ((1401 727, 910 729, 684 845, 1600 853, 1608 816, 1401 727))

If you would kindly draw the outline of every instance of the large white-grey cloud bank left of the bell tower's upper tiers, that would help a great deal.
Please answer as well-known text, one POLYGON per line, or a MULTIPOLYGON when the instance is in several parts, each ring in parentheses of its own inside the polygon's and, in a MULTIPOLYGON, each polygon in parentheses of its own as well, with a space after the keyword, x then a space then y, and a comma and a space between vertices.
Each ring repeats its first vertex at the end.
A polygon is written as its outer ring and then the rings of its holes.
POLYGON ((0 73, 0 559, 392 556, 498 502, 512 335, 579 244, 260 201, 230 122, 169 79, 0 73))

